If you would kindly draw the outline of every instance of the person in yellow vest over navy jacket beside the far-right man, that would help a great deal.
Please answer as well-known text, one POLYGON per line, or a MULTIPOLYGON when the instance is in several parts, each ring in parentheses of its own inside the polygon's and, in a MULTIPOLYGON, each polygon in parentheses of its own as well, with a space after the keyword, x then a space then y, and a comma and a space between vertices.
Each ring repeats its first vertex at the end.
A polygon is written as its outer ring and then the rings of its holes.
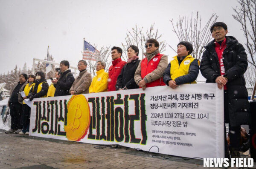
POLYGON ((166 85, 175 89, 178 85, 196 83, 199 73, 199 61, 190 54, 193 51, 191 43, 182 41, 177 45, 177 56, 173 57, 163 73, 166 85))

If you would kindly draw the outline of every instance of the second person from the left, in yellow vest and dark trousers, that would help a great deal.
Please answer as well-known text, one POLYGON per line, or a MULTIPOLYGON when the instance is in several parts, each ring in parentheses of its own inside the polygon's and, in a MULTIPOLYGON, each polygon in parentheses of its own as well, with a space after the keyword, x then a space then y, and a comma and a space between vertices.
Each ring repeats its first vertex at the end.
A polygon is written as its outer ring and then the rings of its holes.
MULTIPOLYGON (((23 88, 23 92, 26 95, 25 97, 23 97, 23 99, 27 98, 27 96, 29 95, 29 91, 32 89, 34 85, 35 85, 35 76, 33 74, 30 74, 28 78, 28 83, 23 88)), ((26 103, 23 100, 22 115, 21 115, 21 123, 22 123, 23 129, 21 132, 19 132, 19 134, 21 135, 29 134, 30 109, 31 108, 28 105, 26 105, 26 103)))

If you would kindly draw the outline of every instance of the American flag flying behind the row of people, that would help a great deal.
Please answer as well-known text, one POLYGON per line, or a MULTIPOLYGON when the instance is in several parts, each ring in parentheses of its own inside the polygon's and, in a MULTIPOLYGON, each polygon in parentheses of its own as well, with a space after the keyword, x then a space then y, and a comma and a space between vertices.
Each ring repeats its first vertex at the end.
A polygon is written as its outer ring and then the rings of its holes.
POLYGON ((90 45, 90 43, 84 40, 83 60, 96 61, 96 54, 99 54, 99 51, 90 45))

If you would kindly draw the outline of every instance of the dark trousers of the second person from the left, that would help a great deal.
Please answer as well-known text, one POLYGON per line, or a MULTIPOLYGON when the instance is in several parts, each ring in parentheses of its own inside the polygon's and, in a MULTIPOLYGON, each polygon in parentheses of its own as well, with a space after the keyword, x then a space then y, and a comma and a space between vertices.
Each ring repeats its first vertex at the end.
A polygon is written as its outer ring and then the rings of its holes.
POLYGON ((31 110, 31 108, 28 105, 26 105, 26 104, 22 105, 21 123, 23 126, 22 131, 24 133, 29 132, 30 110, 31 110))

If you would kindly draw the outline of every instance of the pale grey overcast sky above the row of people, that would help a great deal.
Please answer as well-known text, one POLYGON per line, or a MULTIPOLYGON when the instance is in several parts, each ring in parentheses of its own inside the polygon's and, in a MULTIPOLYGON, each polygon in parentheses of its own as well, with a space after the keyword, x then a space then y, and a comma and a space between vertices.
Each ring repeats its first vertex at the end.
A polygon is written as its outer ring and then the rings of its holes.
MULTIPOLYGON (((240 43, 244 37, 233 19, 236 0, 0 0, 0 73, 49 53, 55 62, 82 59, 83 38, 98 46, 121 46, 127 29, 137 24, 145 29, 155 23, 161 40, 177 46, 169 20, 200 12, 205 23, 214 12, 228 26, 228 35, 240 43)), ((166 47, 169 60, 175 55, 166 47)))

